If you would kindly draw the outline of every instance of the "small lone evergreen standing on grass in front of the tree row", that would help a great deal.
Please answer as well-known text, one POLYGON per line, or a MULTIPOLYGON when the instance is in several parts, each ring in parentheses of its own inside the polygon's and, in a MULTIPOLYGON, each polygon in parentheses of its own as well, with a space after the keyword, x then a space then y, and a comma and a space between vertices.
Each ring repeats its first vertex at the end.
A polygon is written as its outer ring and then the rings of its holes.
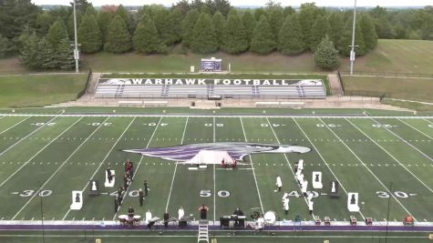
POLYGON ((340 66, 338 51, 327 35, 322 39, 314 52, 315 66, 323 69, 333 70, 340 66))

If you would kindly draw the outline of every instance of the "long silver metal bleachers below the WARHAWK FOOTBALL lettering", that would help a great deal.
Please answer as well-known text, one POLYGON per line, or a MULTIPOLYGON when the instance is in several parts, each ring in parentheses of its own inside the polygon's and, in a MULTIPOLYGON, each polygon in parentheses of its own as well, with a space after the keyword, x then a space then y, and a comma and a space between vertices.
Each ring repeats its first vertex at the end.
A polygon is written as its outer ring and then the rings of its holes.
POLYGON ((113 85, 99 84, 102 98, 325 98, 323 85, 232 86, 232 85, 113 85))

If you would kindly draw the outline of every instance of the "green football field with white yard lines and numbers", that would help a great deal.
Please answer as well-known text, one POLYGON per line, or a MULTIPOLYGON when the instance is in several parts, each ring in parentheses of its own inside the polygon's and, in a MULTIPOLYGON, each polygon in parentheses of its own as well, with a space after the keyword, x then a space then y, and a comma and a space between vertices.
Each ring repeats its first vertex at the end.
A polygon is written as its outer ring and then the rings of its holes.
POLYGON ((219 220, 236 207, 245 215, 274 211, 281 220, 300 215, 312 220, 294 164, 304 159, 304 175, 314 191, 314 216, 335 221, 374 218, 401 221, 412 215, 433 222, 433 118, 380 116, 0 116, 1 220, 115 220, 128 207, 144 216, 149 209, 174 217, 180 207, 199 218, 206 204, 208 218, 219 220), (233 170, 220 165, 190 170, 191 165, 159 157, 141 157, 123 149, 176 147, 201 143, 253 143, 310 147, 305 154, 246 156, 233 170), (114 212, 116 188, 124 163, 136 173, 127 196, 114 212), (116 171, 116 186, 104 187, 105 169, 116 171), (323 173, 323 189, 312 187, 312 172, 323 173), (284 215, 283 192, 274 192, 275 177, 290 193, 284 215), (90 179, 102 194, 89 196, 90 179), (139 207, 137 190, 149 181, 149 196, 139 207), (329 197, 332 181, 339 198, 329 197), (82 190, 84 206, 70 210, 71 191, 82 190), (346 207, 348 192, 358 192, 360 212, 346 207), (389 213, 389 214, 388 214, 389 213))

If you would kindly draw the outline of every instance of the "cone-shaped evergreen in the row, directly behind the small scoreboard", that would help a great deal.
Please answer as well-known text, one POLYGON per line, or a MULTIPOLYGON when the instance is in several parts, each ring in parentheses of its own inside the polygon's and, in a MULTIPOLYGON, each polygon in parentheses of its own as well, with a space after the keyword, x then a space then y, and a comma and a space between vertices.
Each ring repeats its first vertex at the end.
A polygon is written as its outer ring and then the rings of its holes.
POLYGON ((208 54, 218 50, 211 15, 201 13, 192 32, 191 49, 196 53, 208 54))

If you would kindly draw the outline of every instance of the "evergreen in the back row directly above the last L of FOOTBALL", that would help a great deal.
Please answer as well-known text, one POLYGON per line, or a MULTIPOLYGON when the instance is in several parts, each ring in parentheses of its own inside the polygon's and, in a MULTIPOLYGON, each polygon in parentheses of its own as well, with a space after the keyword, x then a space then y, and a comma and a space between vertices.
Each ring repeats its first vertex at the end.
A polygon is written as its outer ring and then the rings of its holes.
POLYGON ((284 55, 295 56, 304 52, 301 24, 297 14, 285 17, 278 35, 278 50, 284 55))

